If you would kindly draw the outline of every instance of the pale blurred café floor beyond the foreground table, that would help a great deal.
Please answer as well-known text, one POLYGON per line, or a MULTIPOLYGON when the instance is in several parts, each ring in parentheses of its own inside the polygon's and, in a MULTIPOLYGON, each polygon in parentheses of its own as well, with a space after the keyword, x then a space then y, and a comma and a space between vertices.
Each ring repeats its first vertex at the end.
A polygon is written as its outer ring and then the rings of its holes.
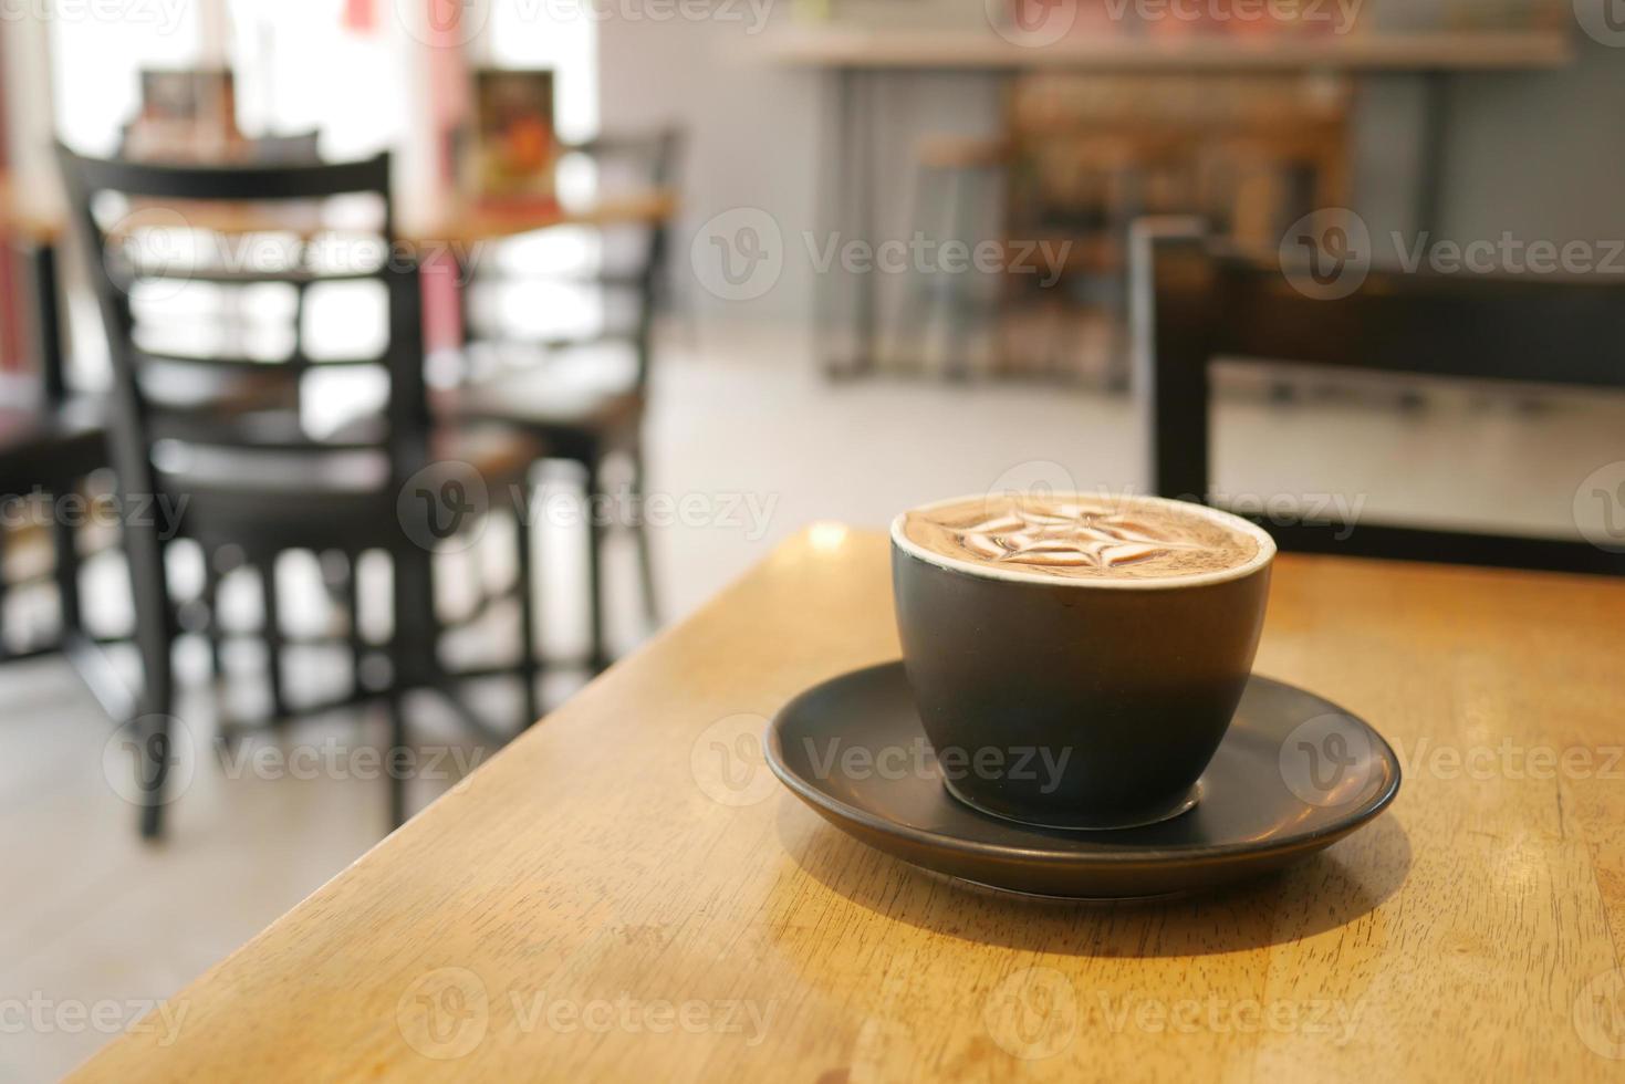
MULTIPOLYGON (((1407 405, 1393 387, 1306 387, 1280 403, 1256 371, 1238 367, 1225 384, 1217 489, 1272 499, 1276 509, 1329 504, 1372 518, 1500 520, 1571 535, 1576 509, 1580 527, 1607 510, 1589 504, 1583 479, 1625 455, 1620 401, 1467 388, 1430 390, 1407 405)), ((655 528, 668 619, 812 522, 879 528, 908 504, 999 484, 1133 491, 1146 479, 1142 429, 1124 398, 1042 385, 830 385, 806 335, 772 328, 717 328, 704 341, 674 335, 660 359, 648 436, 652 489, 668 517, 655 528)), ((578 655, 578 531, 569 530, 562 497, 538 507, 557 518, 541 540, 544 640, 552 653, 578 655)), ((494 564, 484 574, 500 579, 494 564)), ((635 583, 624 543, 611 569, 618 588, 635 583)), ((452 570, 466 574, 466 561, 452 570)), ((94 575, 93 600, 114 621, 117 569, 94 575)), ((283 575, 297 600, 289 621, 320 626, 310 562, 296 559, 283 575)), ((245 626, 255 621, 249 588, 231 585, 224 603, 245 626)), ((505 635, 500 618, 488 639, 505 635)), ((618 592, 613 618, 618 645, 632 648, 645 634, 632 590, 618 592)), ((193 678, 203 658, 202 645, 184 647, 193 678)), ((252 670, 254 644, 234 647, 229 663, 252 670)), ((343 673, 335 658, 296 665, 301 687, 343 673)), ((549 699, 578 681, 557 674, 549 699)), ((384 783, 369 777, 377 765, 366 757, 382 730, 374 717, 340 712, 221 759, 208 741, 213 699, 193 686, 180 710, 192 754, 179 772, 171 834, 143 847, 135 809, 119 793, 124 775, 110 770, 125 752, 70 670, 41 661, 0 671, 3 1081, 67 1071, 384 834, 384 783)), ((250 709, 255 692, 249 684, 250 709)), ((502 697, 492 692, 489 704, 500 709, 502 697)), ((411 800, 421 808, 491 749, 462 738, 431 702, 416 715, 424 759, 411 800)))

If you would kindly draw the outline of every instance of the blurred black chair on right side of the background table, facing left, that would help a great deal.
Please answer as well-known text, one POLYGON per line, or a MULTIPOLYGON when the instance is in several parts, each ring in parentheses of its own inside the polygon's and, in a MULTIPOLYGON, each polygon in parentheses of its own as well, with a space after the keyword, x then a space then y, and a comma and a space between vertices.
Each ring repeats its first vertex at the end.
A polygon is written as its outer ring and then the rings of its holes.
MULTIPOLYGON (((676 185, 676 167, 681 154, 681 135, 676 130, 660 130, 652 135, 603 137, 566 146, 562 158, 585 158, 598 171, 600 187, 613 192, 630 185, 647 190, 671 190, 676 185)), ((642 509, 645 463, 642 426, 648 405, 648 372, 652 362, 652 336, 655 315, 665 302, 663 268, 668 245, 668 229, 663 221, 639 226, 624 241, 616 260, 606 267, 582 273, 566 273, 551 281, 566 281, 603 291, 609 319, 593 335, 580 338, 522 343, 528 348, 528 361, 535 361, 540 348, 546 359, 559 359, 570 351, 619 343, 632 351, 632 380, 611 390, 567 385, 549 372, 546 361, 528 366, 494 366, 476 375, 466 387, 447 398, 447 408, 460 418, 496 421, 512 426, 540 440, 549 458, 569 460, 583 471, 583 496, 588 507, 606 496, 603 468, 611 457, 624 457, 629 468, 627 489, 634 507, 642 509), (614 304, 609 304, 614 302, 614 304)), ((504 346, 500 335, 479 335, 470 330, 470 353, 497 353, 504 346)), ((609 665, 604 642, 604 580, 603 543, 606 527, 588 517, 588 592, 593 671, 609 665)), ((653 557, 642 517, 629 523, 637 543, 644 611, 648 624, 658 624, 653 557)))

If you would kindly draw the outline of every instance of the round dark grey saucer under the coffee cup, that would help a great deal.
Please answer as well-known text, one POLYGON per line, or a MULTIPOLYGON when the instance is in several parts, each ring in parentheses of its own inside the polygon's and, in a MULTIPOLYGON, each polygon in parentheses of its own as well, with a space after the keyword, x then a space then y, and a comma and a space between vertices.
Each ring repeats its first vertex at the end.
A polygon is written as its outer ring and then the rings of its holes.
POLYGON ((1399 761, 1381 735, 1256 674, 1196 808, 1134 829, 1029 827, 959 803, 918 754, 925 733, 900 661, 808 689, 778 712, 765 743, 774 774, 864 843, 960 881, 1072 899, 1168 895, 1279 869, 1355 830, 1399 791, 1399 761))

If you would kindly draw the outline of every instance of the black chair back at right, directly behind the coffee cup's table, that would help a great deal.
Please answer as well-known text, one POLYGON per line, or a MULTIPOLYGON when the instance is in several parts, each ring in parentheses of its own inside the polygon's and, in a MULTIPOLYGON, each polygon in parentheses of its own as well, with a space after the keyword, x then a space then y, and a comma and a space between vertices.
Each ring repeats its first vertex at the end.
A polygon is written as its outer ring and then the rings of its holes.
MULTIPOLYGON (((1209 499, 1211 367, 1219 358, 1625 387, 1618 283, 1372 270, 1352 294, 1315 299, 1279 262, 1214 245, 1190 219, 1139 223, 1133 249, 1136 379, 1152 488, 1162 496, 1209 499)), ((1284 551, 1625 574, 1625 554, 1584 541, 1363 520, 1266 527, 1284 551)))

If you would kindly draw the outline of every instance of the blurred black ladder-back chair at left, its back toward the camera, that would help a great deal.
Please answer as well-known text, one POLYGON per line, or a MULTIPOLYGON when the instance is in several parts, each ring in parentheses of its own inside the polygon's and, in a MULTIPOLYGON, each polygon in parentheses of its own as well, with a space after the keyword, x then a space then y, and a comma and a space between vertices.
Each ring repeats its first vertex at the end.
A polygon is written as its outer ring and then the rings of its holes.
MULTIPOLYGON (((405 258, 403 249, 395 244, 388 156, 348 164, 240 167, 96 161, 67 148, 58 148, 58 156, 112 353, 109 418, 119 492, 125 507, 133 507, 133 499, 146 494, 161 494, 171 507, 180 509, 179 522, 172 525, 158 523, 154 517, 125 517, 124 522, 145 676, 140 699, 143 733, 136 735, 146 795, 143 834, 159 834, 169 765, 169 712, 176 694, 171 644, 179 619, 167 590, 164 551, 176 538, 202 546, 210 566, 221 549, 234 548, 262 570, 266 582, 284 551, 341 554, 351 570, 351 598, 356 595, 354 567, 361 554, 388 554, 393 566, 392 635, 384 645, 362 642, 351 608, 348 639, 356 652, 356 678, 351 696, 340 702, 382 699, 388 707, 392 751, 406 746, 401 697, 419 687, 444 694, 465 723, 500 741, 502 735, 462 702, 457 674, 439 658, 440 621, 434 608, 431 546, 447 530, 466 527, 470 505, 466 494, 453 489, 463 479, 452 463, 473 465, 488 491, 500 497, 509 491, 505 479, 517 478, 536 449, 512 434, 448 429, 432 423, 424 388, 419 275, 414 260, 405 258), (344 197, 349 206, 366 200, 374 205, 375 216, 375 224, 362 231, 367 247, 359 249, 356 258, 338 263, 322 258, 322 242, 332 234, 317 229, 281 262, 254 258, 247 262, 252 267, 245 267, 213 258, 214 249, 205 247, 200 262, 177 270, 153 263, 130 237, 109 236, 104 216, 98 213, 98 206, 109 200, 117 205, 114 213, 143 202, 179 202, 188 208, 255 205, 289 211, 304 205, 304 218, 297 221, 309 224, 317 208, 335 197, 344 197), (361 252, 367 254, 366 258, 361 252), (385 302, 387 341, 359 356, 317 359, 307 351, 302 328, 296 325, 294 348, 273 359, 154 348, 145 335, 141 306, 135 299, 145 288, 177 278, 221 289, 270 286, 296 293, 325 283, 370 283, 385 302), (359 410, 333 432, 312 436, 301 416, 302 382, 317 371, 338 367, 382 374, 387 395, 382 406, 359 410), (236 388, 240 380, 249 380, 255 392, 236 398, 228 408, 187 403, 184 410, 176 410, 151 393, 148 379, 161 372, 188 374, 190 384, 205 390, 236 388), (221 372, 234 380, 221 385, 221 372), (447 497, 444 505, 442 497, 447 497), (364 663, 370 661, 375 647, 388 663, 388 679, 369 683, 364 674, 375 668, 364 663)), ((240 252, 240 245, 236 250, 240 252)), ((214 398, 231 400, 234 395, 226 392, 214 398)), ((515 525, 520 554, 528 554, 525 517, 517 515, 515 525)), ((533 595, 530 562, 523 557, 518 580, 522 647, 512 670, 523 679, 528 723, 538 712, 533 595)), ((265 603, 266 639, 275 645, 281 632, 276 592, 270 582, 265 603)), ((214 614, 210 619, 218 624, 214 614)), ((275 653, 270 676, 280 722, 286 704, 275 653)), ((328 707, 333 705, 302 705, 302 710, 328 707)), ((396 772, 385 775, 390 778, 390 817, 398 824, 405 817, 403 780, 396 772)))

